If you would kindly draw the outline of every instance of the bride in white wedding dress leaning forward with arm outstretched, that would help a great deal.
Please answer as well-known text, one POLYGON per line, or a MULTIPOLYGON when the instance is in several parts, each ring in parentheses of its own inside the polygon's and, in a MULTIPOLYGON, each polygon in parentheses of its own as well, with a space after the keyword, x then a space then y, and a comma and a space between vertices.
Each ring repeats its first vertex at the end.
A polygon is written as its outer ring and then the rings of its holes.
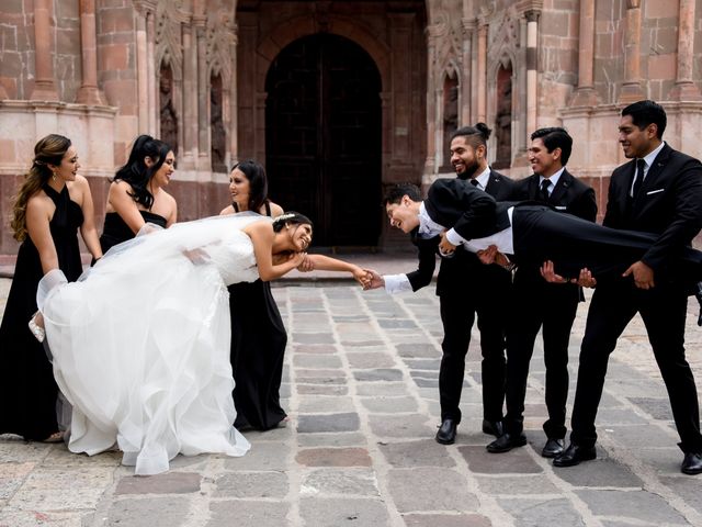
MULTIPOLYGON (((58 270, 37 302, 59 389, 72 405, 72 452, 116 444, 136 474, 179 452, 242 456, 233 423, 226 285, 272 280, 301 265, 302 214, 242 213, 177 224, 111 249, 78 282, 58 270)), ((332 260, 330 270, 364 271, 332 260)))

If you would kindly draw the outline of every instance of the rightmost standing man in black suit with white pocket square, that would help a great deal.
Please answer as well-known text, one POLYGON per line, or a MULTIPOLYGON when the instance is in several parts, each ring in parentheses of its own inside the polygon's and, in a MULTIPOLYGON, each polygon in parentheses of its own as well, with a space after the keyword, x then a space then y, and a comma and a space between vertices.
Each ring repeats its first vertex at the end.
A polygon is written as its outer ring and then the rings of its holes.
POLYGON ((702 164, 663 142, 664 109, 639 101, 622 111, 619 142, 632 159, 610 180, 603 224, 653 233, 655 242, 623 278, 597 278, 580 348, 570 445, 554 459, 571 467, 596 458, 595 418, 607 363, 616 340, 639 313, 668 390, 684 458, 681 471, 702 472, 698 393, 684 357, 684 324, 691 284, 666 273, 702 227, 702 164))

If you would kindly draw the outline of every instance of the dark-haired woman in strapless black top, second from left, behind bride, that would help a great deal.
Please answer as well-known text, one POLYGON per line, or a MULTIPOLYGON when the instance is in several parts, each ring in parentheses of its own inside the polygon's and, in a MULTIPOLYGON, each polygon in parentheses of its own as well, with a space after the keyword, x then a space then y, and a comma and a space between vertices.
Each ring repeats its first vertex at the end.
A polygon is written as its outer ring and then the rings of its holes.
POLYGON ((176 156, 171 147, 149 135, 134 142, 127 162, 117 170, 107 193, 102 250, 133 238, 147 223, 166 228, 178 216, 176 200, 163 187, 170 181, 176 156))

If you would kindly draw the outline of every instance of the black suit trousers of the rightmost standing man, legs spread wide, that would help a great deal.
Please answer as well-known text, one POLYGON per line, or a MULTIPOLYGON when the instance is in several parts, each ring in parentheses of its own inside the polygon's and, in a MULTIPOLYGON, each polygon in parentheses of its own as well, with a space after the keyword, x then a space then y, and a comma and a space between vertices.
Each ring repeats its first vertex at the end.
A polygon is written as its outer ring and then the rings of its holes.
POLYGON ((639 313, 668 391, 680 447, 686 452, 702 451, 698 392, 684 356, 687 302, 687 291, 673 285, 639 290, 629 279, 598 284, 580 348, 573 442, 585 447, 595 445, 595 419, 609 356, 629 322, 639 313))

